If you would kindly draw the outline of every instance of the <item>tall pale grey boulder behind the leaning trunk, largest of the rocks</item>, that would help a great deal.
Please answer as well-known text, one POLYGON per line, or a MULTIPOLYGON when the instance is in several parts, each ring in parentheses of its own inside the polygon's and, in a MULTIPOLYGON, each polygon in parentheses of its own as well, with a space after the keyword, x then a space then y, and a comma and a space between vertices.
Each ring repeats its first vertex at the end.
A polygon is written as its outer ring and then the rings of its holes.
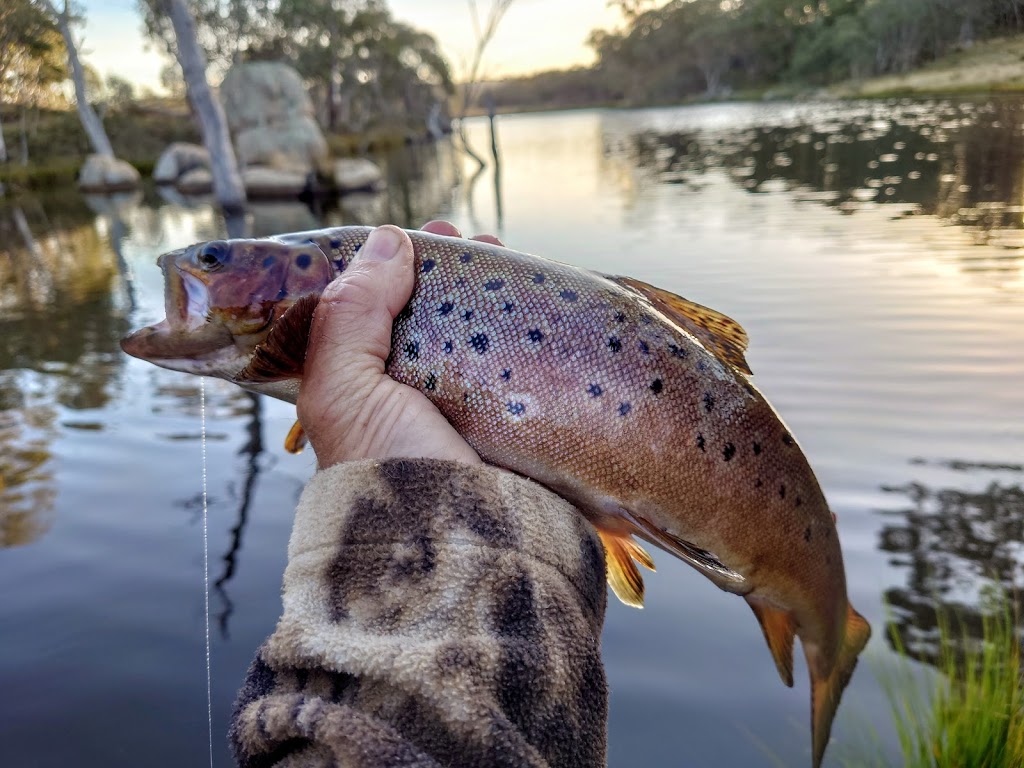
POLYGON ((299 74, 276 61, 234 65, 220 85, 239 165, 307 174, 327 159, 327 140, 299 74))

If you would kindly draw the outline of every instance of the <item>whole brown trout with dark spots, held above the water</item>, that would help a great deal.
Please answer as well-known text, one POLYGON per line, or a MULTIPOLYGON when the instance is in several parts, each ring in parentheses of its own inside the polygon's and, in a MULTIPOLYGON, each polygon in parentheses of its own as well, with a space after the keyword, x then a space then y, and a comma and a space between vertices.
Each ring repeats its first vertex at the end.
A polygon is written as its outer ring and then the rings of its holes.
MULTIPOLYGON (((370 227, 214 241, 160 257, 167 318, 129 354, 295 402, 321 292, 370 227)), ((806 457, 751 384, 732 319, 630 278, 477 241, 409 232, 416 288, 387 373, 492 464, 574 504, 608 583, 640 606, 634 537, 754 609, 793 685, 811 677, 813 762, 870 629, 850 606, 835 518, 806 457)))

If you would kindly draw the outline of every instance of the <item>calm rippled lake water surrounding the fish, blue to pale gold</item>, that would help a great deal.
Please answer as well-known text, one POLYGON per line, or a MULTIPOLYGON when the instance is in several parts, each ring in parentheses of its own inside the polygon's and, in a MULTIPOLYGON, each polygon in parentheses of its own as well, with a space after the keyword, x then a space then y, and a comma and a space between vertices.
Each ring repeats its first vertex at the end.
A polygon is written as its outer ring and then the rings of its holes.
MULTIPOLYGON (((1016 100, 524 115, 500 121, 497 179, 449 146, 411 148, 386 159, 384 195, 315 214, 257 206, 248 223, 447 218, 739 321, 755 381, 839 515, 851 601, 874 627, 826 763, 895 765, 888 630, 927 679, 935 609, 976 611, 988 580, 1024 577, 1022 133, 1016 100)), ((470 135, 487 145, 484 123, 470 135)), ((0 208, 5 767, 207 760, 199 380, 117 342, 163 316, 155 257, 223 229, 202 201, 154 189, 0 208)), ((223 766, 314 460, 282 449, 291 407, 223 382, 207 403, 223 766)), ((609 600, 610 764, 809 765, 803 664, 786 689, 741 600, 655 559, 646 609, 609 600)))

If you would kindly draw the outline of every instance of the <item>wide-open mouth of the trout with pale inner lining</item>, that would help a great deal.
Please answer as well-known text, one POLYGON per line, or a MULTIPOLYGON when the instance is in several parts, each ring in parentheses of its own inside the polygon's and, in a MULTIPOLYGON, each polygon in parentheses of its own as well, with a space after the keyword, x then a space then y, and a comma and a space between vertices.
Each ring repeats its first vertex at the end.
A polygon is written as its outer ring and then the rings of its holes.
POLYGON ((127 354, 151 362, 184 360, 232 345, 230 331, 210 319, 210 292, 206 284, 177 263, 186 250, 165 253, 157 260, 164 272, 167 317, 123 338, 121 348, 127 354))

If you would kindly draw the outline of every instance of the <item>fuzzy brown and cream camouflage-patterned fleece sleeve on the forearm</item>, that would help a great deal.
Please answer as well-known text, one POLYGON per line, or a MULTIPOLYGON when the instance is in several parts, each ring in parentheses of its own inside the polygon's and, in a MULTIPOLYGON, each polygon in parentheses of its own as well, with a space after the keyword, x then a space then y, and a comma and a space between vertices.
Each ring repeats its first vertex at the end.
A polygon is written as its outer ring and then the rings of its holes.
POLYGON ((288 554, 239 765, 605 764, 603 551, 559 497, 486 466, 340 464, 288 554))

